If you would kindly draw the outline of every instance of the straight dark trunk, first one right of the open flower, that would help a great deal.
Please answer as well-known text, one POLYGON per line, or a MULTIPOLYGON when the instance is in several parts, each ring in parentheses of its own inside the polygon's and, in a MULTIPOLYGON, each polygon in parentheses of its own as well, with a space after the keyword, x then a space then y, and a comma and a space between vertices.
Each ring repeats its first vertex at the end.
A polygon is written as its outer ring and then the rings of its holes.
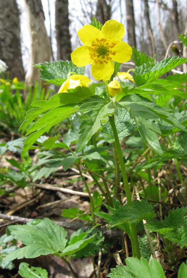
POLYGON ((133 0, 125 0, 125 3, 126 3, 126 14, 127 14, 128 43, 130 44, 131 47, 132 46, 136 47, 133 0))

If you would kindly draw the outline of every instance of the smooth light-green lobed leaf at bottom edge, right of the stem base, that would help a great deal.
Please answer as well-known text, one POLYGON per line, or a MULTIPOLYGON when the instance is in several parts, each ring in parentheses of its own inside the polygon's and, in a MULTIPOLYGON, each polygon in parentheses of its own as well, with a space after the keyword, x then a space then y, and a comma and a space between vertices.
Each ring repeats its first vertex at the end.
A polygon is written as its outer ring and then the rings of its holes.
POLYGON ((137 258, 129 257, 125 262, 130 272, 137 278, 165 278, 164 270, 156 259, 152 259, 150 264, 148 264, 144 258, 138 260, 137 258))

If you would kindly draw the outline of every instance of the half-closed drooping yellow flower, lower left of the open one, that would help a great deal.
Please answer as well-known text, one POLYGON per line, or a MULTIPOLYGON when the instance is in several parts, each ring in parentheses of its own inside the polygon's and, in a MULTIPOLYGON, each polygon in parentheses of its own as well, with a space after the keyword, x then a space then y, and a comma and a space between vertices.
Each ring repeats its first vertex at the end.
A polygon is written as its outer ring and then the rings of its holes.
POLYGON ((81 74, 71 75, 70 77, 68 77, 66 81, 64 81, 64 83, 62 83, 62 86, 60 87, 58 93, 67 93, 68 89, 74 89, 77 86, 88 87, 89 85, 88 82, 91 82, 91 80, 84 75, 81 74))

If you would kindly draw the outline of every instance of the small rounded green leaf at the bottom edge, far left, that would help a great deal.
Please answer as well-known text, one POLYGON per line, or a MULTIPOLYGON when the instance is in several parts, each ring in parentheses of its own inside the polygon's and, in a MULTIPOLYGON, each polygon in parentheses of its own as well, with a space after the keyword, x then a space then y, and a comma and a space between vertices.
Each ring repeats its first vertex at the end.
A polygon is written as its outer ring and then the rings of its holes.
POLYGON ((47 278, 48 272, 46 269, 41 267, 29 267, 28 263, 20 263, 19 265, 19 275, 23 278, 47 278))

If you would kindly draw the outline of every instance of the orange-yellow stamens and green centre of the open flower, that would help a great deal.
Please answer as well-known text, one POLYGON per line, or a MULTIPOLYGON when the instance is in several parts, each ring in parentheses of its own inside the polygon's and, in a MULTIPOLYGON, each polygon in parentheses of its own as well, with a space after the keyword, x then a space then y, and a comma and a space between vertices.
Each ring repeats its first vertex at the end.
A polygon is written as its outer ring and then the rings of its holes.
POLYGON ((91 53, 89 53, 91 59, 97 64, 107 64, 108 60, 112 60, 110 55, 115 55, 116 51, 112 51, 111 48, 113 48, 116 44, 115 43, 108 43, 106 39, 98 39, 96 38, 96 42, 93 40, 91 47, 89 49, 91 50, 91 53))

